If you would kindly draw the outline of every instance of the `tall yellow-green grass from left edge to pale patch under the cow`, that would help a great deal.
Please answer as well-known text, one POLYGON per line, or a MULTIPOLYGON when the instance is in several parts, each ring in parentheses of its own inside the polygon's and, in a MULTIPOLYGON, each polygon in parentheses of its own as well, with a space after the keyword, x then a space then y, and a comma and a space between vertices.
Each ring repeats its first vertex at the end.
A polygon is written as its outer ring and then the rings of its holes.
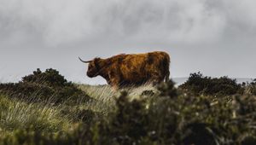
MULTIPOLYGON (((85 102, 82 96, 75 103, 68 103, 69 99, 61 104, 52 103, 55 96, 49 96, 47 100, 38 102, 36 99, 26 97, 10 98, 6 95, 0 96, 0 131, 11 132, 16 129, 32 128, 37 131, 68 131, 73 124, 87 121, 86 117, 79 119, 79 113, 87 113, 89 110, 98 115, 108 116, 116 109, 116 99, 120 92, 127 91, 130 100, 142 98, 144 90, 157 90, 151 84, 140 87, 129 87, 124 90, 113 90, 109 85, 86 85, 76 84, 86 92, 92 99, 85 102)), ((37 94, 33 94, 37 95, 37 94)), ((82 114, 85 115, 86 114, 82 114)), ((88 116, 90 120, 91 116, 88 116)))

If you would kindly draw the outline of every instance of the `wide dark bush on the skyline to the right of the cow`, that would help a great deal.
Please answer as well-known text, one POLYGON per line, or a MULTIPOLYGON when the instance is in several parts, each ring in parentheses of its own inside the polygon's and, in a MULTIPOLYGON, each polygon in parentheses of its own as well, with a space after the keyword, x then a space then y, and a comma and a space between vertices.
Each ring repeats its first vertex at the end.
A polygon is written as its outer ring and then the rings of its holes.
POLYGON ((241 84, 236 84, 236 79, 204 77, 201 73, 191 73, 179 88, 197 96, 231 96, 243 92, 241 84))

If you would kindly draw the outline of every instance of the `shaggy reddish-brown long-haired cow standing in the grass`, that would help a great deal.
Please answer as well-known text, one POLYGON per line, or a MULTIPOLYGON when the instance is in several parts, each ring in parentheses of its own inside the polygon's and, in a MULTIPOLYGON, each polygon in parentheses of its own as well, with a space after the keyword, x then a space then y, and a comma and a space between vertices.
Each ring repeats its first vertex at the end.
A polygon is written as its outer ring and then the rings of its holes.
MULTIPOLYGON (((85 61, 84 61, 85 62, 85 61)), ((146 82, 159 84, 169 79, 170 56, 155 51, 136 55, 114 55, 107 59, 95 58, 90 62, 87 76, 105 78, 115 88, 146 82)))

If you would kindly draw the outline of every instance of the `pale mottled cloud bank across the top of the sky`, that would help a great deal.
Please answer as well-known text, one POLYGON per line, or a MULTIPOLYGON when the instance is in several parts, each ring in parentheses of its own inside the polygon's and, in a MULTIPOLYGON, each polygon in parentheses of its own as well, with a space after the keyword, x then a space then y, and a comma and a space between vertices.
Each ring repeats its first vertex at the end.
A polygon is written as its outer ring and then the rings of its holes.
POLYGON ((224 32, 255 36, 251 31, 256 26, 255 4, 253 0, 10 0, 0 6, 0 30, 1 37, 25 31, 49 45, 107 37, 211 43, 224 32))

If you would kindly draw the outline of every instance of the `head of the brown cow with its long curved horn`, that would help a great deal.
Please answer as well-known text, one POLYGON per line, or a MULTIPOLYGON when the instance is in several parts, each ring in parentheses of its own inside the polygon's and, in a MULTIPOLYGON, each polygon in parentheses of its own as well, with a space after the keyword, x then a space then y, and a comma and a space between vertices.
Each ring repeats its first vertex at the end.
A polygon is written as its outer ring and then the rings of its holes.
POLYGON ((100 73, 100 66, 99 66, 99 61, 101 60, 101 58, 96 57, 94 60, 92 61, 83 61, 80 59, 79 60, 84 62, 84 63, 89 63, 88 65, 88 70, 87 70, 87 76, 90 78, 96 77, 97 75, 99 75, 100 73))

